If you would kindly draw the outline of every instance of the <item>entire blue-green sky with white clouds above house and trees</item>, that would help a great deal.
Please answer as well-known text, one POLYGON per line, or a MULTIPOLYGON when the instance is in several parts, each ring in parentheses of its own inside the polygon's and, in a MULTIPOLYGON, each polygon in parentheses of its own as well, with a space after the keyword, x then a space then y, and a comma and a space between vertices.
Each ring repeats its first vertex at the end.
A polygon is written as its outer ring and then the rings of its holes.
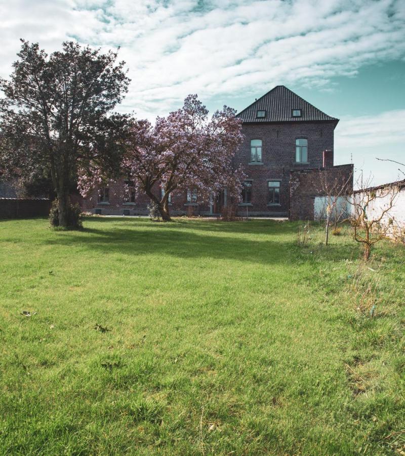
POLYGON ((285 85, 337 117, 335 164, 373 184, 405 178, 405 0, 0 0, 0 76, 20 38, 119 49, 117 108, 153 121, 189 93, 240 111, 285 85))

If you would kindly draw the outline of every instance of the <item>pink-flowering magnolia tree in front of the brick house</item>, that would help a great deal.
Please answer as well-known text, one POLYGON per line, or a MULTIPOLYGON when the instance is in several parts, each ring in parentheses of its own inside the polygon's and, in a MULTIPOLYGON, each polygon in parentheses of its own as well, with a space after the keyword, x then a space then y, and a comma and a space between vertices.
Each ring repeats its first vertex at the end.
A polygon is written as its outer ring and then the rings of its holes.
MULTIPOLYGON (((224 188, 234 199, 240 198, 244 178, 241 166, 233 158, 241 144, 241 121, 227 106, 208 118, 208 110, 188 95, 182 108, 166 118, 133 120, 121 172, 153 201, 163 220, 170 220, 169 195, 197 188, 200 201, 218 195, 224 188), (154 192, 156 185, 163 191, 154 192)), ((96 166, 82 170, 79 191, 87 196, 108 176, 96 166)))

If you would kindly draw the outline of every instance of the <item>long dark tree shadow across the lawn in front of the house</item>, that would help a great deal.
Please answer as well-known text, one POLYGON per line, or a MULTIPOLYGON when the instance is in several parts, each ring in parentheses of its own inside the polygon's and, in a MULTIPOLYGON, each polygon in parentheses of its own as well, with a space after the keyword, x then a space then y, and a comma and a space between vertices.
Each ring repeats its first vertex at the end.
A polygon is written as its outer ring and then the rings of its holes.
MULTIPOLYGON (((85 227, 79 232, 64 232, 46 244, 70 246, 83 245, 84 251, 94 249, 103 255, 121 254, 162 255, 178 258, 234 260, 248 263, 280 264, 294 262, 297 258, 295 224, 260 221, 246 223, 179 221, 173 223, 151 223, 147 219, 92 219, 96 227, 85 227), (220 226, 217 224, 220 223, 220 226), (212 225, 216 230, 212 230, 212 225), (221 229, 225 228, 225 230, 221 229), (211 232, 211 233, 208 233, 211 232), (220 232, 223 235, 220 235, 220 232), (234 236, 229 234, 233 233, 234 236), (254 236, 261 235, 255 239, 254 236), (275 240, 272 235, 286 234, 286 240, 275 240), (264 235, 264 236, 263 236, 264 235), (269 239, 270 238, 270 239, 269 239)), ((329 246, 328 258, 337 261, 347 258, 347 248, 329 246)), ((85 253, 84 253, 85 254, 85 253)), ((302 259, 302 258, 301 258, 302 259)), ((312 261, 308 256, 308 262, 312 261)))

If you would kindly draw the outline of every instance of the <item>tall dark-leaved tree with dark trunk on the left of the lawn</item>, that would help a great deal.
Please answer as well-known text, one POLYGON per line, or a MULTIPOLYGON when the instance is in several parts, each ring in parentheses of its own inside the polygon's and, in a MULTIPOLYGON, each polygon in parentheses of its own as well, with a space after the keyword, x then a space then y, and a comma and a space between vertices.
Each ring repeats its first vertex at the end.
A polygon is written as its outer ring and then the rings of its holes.
POLYGON ((0 170, 50 174, 66 226, 77 168, 96 162, 113 173, 120 163, 128 118, 112 110, 130 80, 116 52, 65 42, 48 56, 21 42, 9 80, 0 79, 0 170))

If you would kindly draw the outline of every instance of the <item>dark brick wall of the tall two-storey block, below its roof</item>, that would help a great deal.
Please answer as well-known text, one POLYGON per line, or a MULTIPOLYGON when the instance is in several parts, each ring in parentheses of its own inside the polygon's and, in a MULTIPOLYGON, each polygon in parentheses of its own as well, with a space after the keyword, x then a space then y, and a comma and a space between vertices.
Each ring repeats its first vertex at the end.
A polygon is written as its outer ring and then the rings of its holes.
MULTIPOLYGON (((323 151, 329 150, 333 165, 335 122, 288 122, 244 124, 245 140, 237 151, 234 164, 242 164, 247 178, 252 179, 250 215, 288 216, 290 208, 290 170, 322 167, 323 151), (295 140, 308 140, 308 163, 295 162, 295 140), (249 165, 251 139, 262 140, 262 164, 249 165), (280 181, 280 204, 268 206, 268 180, 280 181)), ((246 215, 246 207, 239 206, 246 215)))

